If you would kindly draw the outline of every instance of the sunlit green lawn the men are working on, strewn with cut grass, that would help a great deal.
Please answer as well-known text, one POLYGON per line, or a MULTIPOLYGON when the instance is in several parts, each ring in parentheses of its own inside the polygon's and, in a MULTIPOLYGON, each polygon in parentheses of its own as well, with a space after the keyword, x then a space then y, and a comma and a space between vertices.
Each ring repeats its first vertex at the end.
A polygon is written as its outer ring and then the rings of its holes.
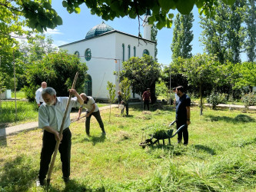
MULTIPOLYGON (((62 181, 59 154, 50 191, 255 191, 256 113, 191 108, 189 144, 139 147, 142 133, 168 128, 172 109, 141 111, 131 106, 129 117, 118 109, 101 111, 106 137, 91 118, 71 124, 71 182, 62 181)), ((167 141, 165 142, 167 143, 167 141)), ((28 131, 0 141, 0 190, 44 191, 35 187, 42 131, 28 131)))

